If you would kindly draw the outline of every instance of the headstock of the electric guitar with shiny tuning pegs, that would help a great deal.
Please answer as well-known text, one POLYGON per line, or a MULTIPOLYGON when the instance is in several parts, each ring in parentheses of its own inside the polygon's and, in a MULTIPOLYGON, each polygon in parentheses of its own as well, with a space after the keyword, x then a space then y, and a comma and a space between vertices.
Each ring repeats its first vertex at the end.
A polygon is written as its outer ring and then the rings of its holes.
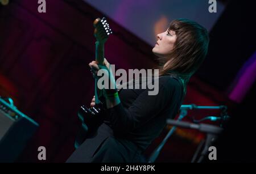
POLYGON ((97 41, 102 44, 104 44, 106 40, 108 40, 109 35, 113 33, 105 17, 94 20, 93 26, 95 27, 94 36, 96 37, 97 41))

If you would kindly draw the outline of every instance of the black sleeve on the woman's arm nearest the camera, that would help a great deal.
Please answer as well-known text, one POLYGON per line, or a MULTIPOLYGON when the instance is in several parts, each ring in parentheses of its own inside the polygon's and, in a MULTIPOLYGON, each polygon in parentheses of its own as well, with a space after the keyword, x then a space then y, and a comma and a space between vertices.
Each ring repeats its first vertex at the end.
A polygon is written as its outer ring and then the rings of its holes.
POLYGON ((144 90, 128 109, 124 108, 122 103, 108 109, 108 119, 113 130, 119 133, 131 131, 155 117, 167 105, 170 105, 177 84, 176 80, 171 79, 169 78, 166 83, 162 84, 159 80, 157 95, 148 95, 148 90, 144 90))

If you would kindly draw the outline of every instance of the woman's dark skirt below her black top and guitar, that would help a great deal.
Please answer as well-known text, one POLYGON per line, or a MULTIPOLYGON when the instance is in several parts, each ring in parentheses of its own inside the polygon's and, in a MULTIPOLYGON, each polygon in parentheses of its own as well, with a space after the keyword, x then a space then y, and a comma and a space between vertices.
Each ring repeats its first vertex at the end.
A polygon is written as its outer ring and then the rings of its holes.
POLYGON ((103 123, 94 137, 87 138, 67 163, 139 163, 145 162, 142 151, 131 141, 117 138, 103 123))

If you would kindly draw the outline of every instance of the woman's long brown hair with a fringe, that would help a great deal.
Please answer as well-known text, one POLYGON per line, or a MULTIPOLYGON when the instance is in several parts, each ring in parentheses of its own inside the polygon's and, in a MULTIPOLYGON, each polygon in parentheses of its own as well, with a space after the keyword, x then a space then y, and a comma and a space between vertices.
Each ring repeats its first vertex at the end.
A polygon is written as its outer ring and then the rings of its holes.
POLYGON ((203 63, 208 52, 209 36, 207 29, 189 19, 175 19, 168 30, 175 31, 174 49, 159 58, 159 76, 173 74, 183 81, 184 94, 191 76, 203 63), (168 62, 166 67, 163 65, 168 62))

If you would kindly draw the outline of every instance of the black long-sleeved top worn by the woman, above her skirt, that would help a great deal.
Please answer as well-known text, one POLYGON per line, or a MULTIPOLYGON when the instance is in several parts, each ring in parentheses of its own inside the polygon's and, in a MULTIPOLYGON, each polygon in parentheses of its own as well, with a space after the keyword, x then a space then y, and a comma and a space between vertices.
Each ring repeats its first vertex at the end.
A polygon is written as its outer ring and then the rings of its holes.
POLYGON ((108 109, 109 125, 114 135, 128 139, 144 151, 166 126, 167 118, 174 118, 183 101, 183 85, 177 78, 159 78, 159 92, 148 95, 144 90, 122 89, 121 103, 108 109))

